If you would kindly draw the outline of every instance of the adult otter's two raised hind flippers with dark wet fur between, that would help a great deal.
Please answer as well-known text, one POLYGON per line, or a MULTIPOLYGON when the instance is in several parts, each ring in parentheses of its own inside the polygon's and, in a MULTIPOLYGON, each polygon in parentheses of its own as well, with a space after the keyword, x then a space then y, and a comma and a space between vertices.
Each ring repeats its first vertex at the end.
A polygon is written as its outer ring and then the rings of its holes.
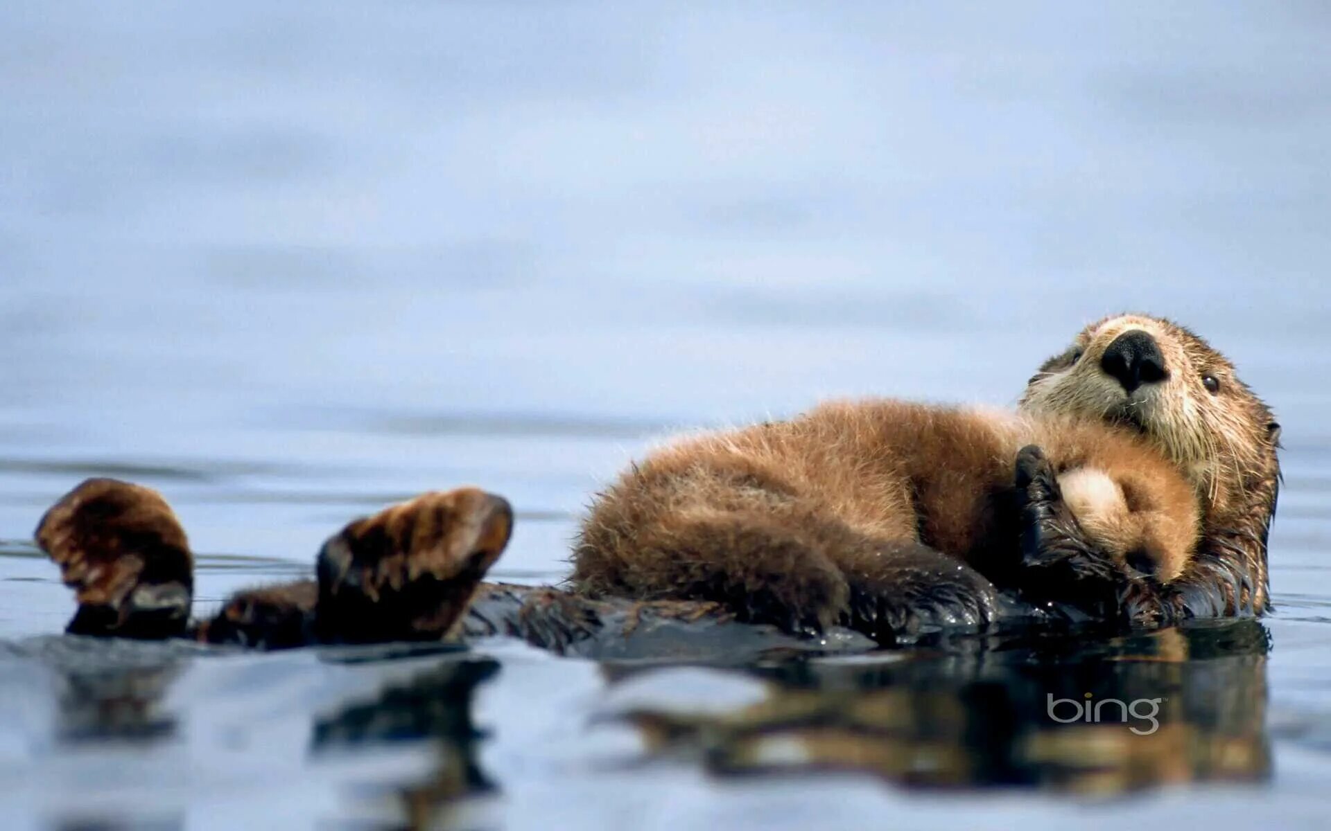
MULTIPOLYGON (((512 511, 498 496, 476 488, 425 493, 329 538, 317 581, 237 592, 189 634, 264 648, 446 638, 511 531, 512 511)), ((185 634, 193 557, 156 491, 84 481, 47 512, 37 542, 77 589, 69 632, 185 634)))

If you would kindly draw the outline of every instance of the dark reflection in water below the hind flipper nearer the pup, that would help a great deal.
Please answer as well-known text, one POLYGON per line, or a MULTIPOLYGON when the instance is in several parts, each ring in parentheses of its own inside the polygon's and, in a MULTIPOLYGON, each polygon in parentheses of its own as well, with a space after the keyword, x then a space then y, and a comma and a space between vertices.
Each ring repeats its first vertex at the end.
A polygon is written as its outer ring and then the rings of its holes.
POLYGON ((321 754, 431 741, 434 772, 395 795, 405 827, 435 827, 453 803, 494 787, 476 763, 475 745, 483 734, 471 721, 471 698, 476 686, 498 671, 499 663, 491 659, 441 663, 405 685, 383 689, 373 702, 317 719, 311 747, 321 754))

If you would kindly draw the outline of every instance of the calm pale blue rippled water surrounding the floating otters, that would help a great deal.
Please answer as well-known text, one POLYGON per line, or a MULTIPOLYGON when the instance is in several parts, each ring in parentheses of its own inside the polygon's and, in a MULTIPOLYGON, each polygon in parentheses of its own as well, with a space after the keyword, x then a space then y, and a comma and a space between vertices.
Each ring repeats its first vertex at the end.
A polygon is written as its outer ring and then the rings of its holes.
POLYGON ((7 827, 1324 822, 1322 7, 8 3, 0 32, 7 827), (495 574, 542 582, 672 429, 1008 406, 1123 308, 1284 424, 1262 624, 745 671, 49 637, 31 533, 85 476, 177 507, 201 610, 467 483, 519 512, 495 574), (1046 717, 1087 691, 1161 729, 1046 717))

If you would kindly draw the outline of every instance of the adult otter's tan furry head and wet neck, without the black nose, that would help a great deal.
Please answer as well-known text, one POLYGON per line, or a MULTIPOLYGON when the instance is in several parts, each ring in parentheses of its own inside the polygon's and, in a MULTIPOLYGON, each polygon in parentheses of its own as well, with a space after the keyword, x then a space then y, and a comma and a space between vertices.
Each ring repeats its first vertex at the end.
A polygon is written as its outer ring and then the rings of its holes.
POLYGON ((1165 601, 1193 616, 1260 614, 1268 606, 1267 532, 1280 484, 1280 427, 1234 364, 1195 334, 1159 318, 1114 315, 1091 323, 1030 379, 1021 408, 1125 424, 1187 479, 1202 505, 1197 556, 1165 601), (1158 343, 1167 378, 1123 391, 1101 356, 1123 332, 1158 343), (1218 382, 1213 392, 1203 378, 1218 382))

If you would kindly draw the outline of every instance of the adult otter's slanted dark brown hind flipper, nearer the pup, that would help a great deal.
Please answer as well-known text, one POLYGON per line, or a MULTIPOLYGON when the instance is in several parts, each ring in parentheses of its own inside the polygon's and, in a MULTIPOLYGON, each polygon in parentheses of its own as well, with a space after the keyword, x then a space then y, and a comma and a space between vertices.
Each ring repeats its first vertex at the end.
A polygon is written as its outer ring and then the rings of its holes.
POLYGON ((450 634, 511 531, 508 503, 476 488, 425 493, 351 523, 319 552, 319 638, 450 634))

